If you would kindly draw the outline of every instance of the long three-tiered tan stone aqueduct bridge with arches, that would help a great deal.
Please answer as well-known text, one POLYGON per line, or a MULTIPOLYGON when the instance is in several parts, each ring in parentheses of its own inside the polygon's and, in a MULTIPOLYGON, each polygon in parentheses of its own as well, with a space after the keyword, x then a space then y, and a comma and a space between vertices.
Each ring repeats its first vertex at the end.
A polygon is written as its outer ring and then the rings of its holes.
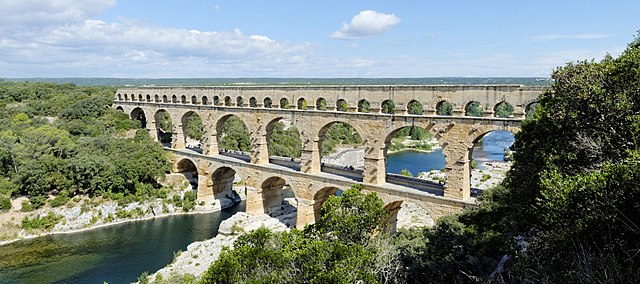
POLYGON ((144 127, 151 133, 159 132, 162 112, 170 115, 173 135, 167 149, 173 153, 174 171, 195 166, 199 200, 216 198, 239 174, 247 186, 247 212, 264 213, 280 206, 282 188, 288 184, 298 200, 297 226, 302 227, 315 221, 328 196, 354 183, 377 192, 392 212, 397 212, 402 201, 418 204, 433 218, 472 206, 470 156, 474 142, 494 130, 517 132, 542 91, 543 87, 516 85, 142 87, 118 90, 114 107, 133 119, 144 118, 144 127), (383 105, 390 101, 395 105, 393 113, 383 113, 383 105), (451 115, 437 115, 438 106, 445 101, 453 105, 451 115), (321 110, 325 102, 326 110, 321 110), (482 117, 465 116, 472 102, 483 107, 482 117), (502 102, 513 106, 512 117, 495 117, 495 108, 502 102), (360 112, 364 103, 369 104, 368 113, 360 112), (414 104, 422 109, 421 115, 408 114, 414 104), (204 125, 202 153, 185 149, 186 121, 193 113, 204 125), (234 115, 250 133, 249 161, 219 153, 223 125, 234 115), (147 123, 145 117, 153 119, 147 123), (283 119, 292 121, 300 131, 300 170, 270 163, 271 130, 283 119), (336 122, 350 124, 363 140, 362 181, 321 171, 319 149, 326 131, 336 122), (443 147, 447 180, 435 194, 386 182, 387 149, 394 134, 406 126, 431 131, 443 147))

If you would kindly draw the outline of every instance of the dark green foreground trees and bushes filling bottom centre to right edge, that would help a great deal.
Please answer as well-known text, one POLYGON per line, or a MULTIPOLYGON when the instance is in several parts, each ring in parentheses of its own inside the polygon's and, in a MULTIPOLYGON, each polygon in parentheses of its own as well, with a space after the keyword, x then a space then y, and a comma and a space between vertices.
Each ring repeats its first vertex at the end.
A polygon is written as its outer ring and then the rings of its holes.
POLYGON ((302 231, 241 237, 202 282, 640 282, 640 39, 552 78, 478 206, 384 234, 382 202, 356 186, 302 231))

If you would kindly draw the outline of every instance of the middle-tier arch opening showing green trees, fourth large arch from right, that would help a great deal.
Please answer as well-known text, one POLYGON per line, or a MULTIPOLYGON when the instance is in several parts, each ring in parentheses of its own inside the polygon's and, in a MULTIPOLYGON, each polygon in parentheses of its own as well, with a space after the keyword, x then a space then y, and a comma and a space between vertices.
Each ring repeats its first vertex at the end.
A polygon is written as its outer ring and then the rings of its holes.
POLYGON ((266 130, 269 162, 299 171, 302 141, 295 122, 276 118, 266 130))

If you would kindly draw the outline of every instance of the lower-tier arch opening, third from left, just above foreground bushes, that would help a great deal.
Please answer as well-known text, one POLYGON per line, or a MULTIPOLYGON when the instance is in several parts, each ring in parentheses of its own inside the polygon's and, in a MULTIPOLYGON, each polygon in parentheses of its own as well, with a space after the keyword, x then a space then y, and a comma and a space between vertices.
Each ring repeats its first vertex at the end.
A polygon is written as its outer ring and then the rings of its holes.
POLYGON ((270 177, 262 182, 261 189, 264 213, 289 228, 295 227, 298 201, 291 186, 281 177, 270 177))

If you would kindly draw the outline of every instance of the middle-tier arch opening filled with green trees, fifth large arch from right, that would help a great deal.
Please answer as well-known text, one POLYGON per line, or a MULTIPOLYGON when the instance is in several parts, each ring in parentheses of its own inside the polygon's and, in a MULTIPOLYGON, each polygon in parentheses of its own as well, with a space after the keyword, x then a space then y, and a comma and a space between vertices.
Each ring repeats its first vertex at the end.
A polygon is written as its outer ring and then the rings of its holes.
POLYGON ((220 155, 249 161, 251 137, 240 117, 229 114, 220 118, 216 124, 216 139, 220 155))

